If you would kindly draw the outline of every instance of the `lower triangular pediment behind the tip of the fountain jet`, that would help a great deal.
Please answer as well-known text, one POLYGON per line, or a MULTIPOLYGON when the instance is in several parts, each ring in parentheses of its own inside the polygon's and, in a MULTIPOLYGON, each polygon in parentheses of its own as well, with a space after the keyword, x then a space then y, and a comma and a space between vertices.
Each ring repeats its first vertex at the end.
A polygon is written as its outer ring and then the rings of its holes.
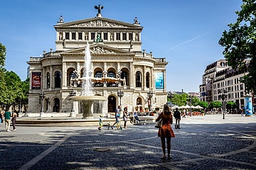
MULTIPOLYGON (((91 55, 134 55, 134 53, 132 52, 128 52, 126 50, 121 50, 121 49, 117 49, 114 47, 109 47, 106 45, 101 45, 101 44, 95 44, 95 45, 90 45, 90 53, 91 55)), ((68 50, 65 51, 63 53, 61 53, 61 55, 81 55, 81 54, 85 54, 85 47, 80 47, 74 50, 68 50)))

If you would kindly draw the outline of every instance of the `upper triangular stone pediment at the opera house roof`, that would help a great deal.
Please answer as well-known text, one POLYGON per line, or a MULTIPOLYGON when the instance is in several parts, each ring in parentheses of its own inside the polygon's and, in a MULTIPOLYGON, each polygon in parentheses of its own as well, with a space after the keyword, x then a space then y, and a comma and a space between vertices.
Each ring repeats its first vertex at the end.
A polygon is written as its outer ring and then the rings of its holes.
POLYGON ((125 23, 109 18, 95 17, 68 23, 59 23, 55 28, 143 28, 137 24, 125 23))

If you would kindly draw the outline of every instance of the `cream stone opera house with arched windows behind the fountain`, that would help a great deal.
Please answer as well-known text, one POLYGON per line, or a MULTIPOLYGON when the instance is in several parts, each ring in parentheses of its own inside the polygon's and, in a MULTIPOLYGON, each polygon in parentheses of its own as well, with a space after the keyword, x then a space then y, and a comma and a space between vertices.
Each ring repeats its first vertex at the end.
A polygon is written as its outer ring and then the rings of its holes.
POLYGON ((70 101, 70 92, 82 94, 85 47, 90 44, 92 95, 105 96, 96 102, 94 113, 113 113, 121 103, 128 111, 154 108, 167 101, 165 58, 156 58, 142 50, 142 29, 134 23, 115 21, 97 13, 95 18, 64 22, 60 16, 55 51, 43 57, 31 57, 28 116, 68 116, 72 108, 81 113, 81 103, 70 101), (124 92, 119 98, 118 91, 124 92), (151 95, 149 95, 149 91, 151 95), (40 98, 40 93, 44 95, 40 98), (121 101, 120 101, 121 100, 121 101), (41 102, 42 101, 42 102, 41 102))

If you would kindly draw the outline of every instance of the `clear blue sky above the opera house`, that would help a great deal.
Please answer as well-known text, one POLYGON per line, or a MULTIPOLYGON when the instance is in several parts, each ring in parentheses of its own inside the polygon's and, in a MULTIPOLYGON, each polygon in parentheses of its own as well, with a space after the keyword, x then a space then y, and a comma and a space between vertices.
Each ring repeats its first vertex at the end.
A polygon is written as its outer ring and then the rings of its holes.
POLYGON ((77 21, 102 16, 133 23, 139 18, 142 49, 165 57, 168 91, 199 91, 206 66, 223 58, 218 45, 234 23, 242 0, 8 0, 1 1, 0 42, 6 46, 6 69, 26 79, 29 57, 55 50, 58 17, 77 21))

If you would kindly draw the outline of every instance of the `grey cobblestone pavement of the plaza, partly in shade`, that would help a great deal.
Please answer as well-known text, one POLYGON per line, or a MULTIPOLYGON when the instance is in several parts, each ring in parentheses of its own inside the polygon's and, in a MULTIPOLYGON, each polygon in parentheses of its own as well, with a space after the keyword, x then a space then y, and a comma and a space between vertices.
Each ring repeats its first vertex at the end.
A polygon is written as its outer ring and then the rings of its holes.
POLYGON ((154 124, 0 130, 0 169, 256 169, 256 116, 183 118, 171 160, 160 159, 154 124))

